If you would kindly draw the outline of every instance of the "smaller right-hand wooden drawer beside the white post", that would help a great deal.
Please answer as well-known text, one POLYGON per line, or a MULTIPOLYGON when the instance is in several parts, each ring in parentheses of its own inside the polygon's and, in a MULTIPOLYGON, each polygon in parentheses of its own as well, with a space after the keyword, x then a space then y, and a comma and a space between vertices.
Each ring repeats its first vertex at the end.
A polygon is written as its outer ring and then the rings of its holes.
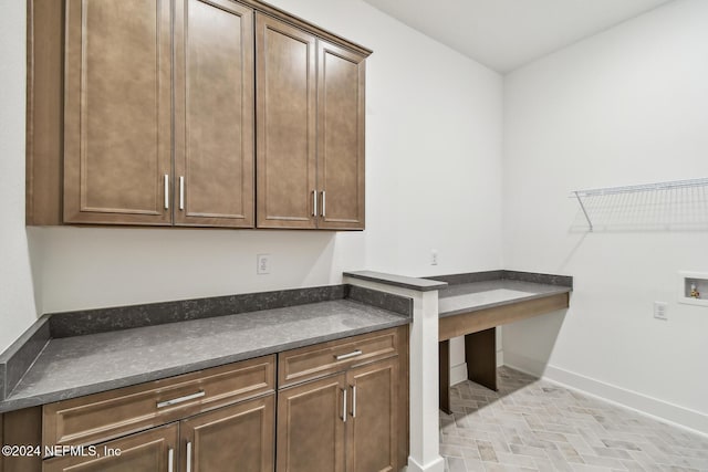
POLYGON ((396 328, 288 350, 278 357, 278 387, 346 370, 397 353, 396 328))

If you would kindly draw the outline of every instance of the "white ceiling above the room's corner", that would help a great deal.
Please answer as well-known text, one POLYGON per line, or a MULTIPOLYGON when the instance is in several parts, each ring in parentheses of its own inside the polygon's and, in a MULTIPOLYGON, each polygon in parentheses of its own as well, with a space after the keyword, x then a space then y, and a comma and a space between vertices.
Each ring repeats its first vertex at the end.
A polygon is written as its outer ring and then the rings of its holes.
POLYGON ((365 0, 507 73, 673 0, 365 0))

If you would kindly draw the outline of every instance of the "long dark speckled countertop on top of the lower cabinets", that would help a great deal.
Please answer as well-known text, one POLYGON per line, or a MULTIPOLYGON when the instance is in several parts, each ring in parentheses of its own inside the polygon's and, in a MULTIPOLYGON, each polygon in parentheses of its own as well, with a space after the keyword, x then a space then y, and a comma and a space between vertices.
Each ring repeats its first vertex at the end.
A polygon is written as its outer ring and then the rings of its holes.
POLYGON ((0 412, 142 384, 410 323, 334 300, 107 333, 52 338, 0 412))

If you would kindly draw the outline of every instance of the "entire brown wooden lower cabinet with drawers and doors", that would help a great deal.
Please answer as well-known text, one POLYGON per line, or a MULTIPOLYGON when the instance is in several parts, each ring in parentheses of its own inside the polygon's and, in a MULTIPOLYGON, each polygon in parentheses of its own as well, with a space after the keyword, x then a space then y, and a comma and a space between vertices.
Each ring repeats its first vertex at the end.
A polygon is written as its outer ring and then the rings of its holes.
POLYGON ((12 411, 0 472, 398 472, 407 378, 404 326, 12 411))

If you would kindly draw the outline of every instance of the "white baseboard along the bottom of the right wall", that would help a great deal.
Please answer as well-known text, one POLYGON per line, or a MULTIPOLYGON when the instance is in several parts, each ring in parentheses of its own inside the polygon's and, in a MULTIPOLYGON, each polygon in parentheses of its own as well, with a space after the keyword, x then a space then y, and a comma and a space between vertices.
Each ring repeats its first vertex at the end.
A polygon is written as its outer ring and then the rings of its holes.
POLYGON ((708 415, 659 400, 637 391, 575 374, 554 366, 546 366, 525 356, 506 353, 506 365, 544 380, 577 390, 581 394, 628 408, 656 420, 670 423, 701 436, 708 436, 708 415))

